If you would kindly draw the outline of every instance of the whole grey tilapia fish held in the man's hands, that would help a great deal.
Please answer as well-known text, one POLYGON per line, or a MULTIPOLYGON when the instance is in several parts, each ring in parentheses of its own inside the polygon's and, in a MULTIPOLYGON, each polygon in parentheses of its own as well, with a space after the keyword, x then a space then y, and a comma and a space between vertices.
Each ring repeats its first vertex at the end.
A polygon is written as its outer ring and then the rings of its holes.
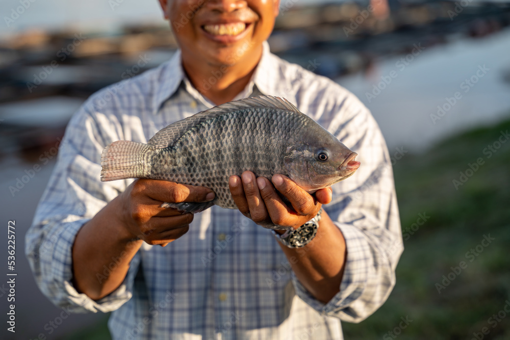
POLYGON ((283 174, 313 194, 354 174, 357 155, 288 100, 259 96, 174 122, 147 144, 111 143, 101 153, 101 181, 151 178, 208 187, 213 201, 162 204, 198 213, 214 204, 237 209, 228 187, 232 175, 283 174))

